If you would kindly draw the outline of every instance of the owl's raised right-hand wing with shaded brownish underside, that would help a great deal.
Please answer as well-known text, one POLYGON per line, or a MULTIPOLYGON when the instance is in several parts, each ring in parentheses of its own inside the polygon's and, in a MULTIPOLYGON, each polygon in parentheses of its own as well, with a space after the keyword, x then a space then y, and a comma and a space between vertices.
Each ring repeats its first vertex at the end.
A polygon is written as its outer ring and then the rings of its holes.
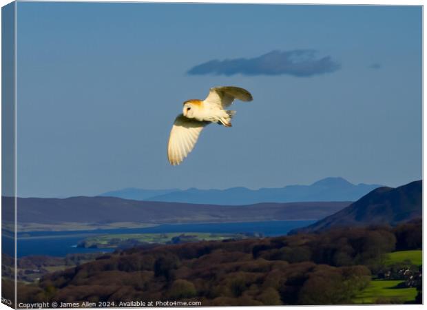
POLYGON ((221 109, 229 107, 234 99, 252 101, 252 95, 247 90, 234 86, 212 87, 204 103, 218 105, 221 109))

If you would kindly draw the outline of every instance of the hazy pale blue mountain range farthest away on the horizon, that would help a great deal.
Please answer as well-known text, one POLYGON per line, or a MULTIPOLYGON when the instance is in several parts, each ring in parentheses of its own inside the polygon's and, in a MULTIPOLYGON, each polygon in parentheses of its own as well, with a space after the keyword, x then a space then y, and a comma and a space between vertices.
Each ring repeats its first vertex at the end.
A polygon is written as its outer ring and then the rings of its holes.
POLYGON ((289 185, 280 188, 247 189, 164 189, 127 188, 100 196, 171 203, 209 205, 250 205, 254 203, 295 203, 318 201, 355 201, 382 185, 354 185, 344 178, 324 178, 312 185, 289 185))

